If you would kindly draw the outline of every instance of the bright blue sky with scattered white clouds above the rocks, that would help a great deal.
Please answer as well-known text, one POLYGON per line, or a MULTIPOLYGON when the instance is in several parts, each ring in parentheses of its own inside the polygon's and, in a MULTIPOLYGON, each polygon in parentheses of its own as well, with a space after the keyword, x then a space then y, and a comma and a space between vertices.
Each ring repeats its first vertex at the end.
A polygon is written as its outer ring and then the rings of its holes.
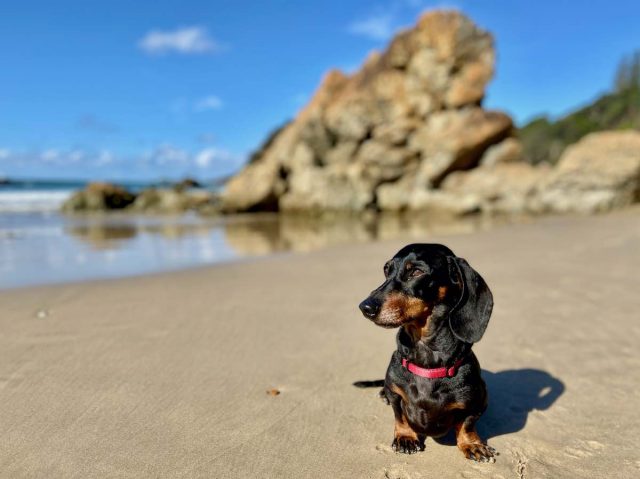
POLYGON ((327 69, 434 7, 494 34, 485 105, 520 123, 607 90, 640 48, 638 1, 5 1, 0 176, 228 174, 327 69))

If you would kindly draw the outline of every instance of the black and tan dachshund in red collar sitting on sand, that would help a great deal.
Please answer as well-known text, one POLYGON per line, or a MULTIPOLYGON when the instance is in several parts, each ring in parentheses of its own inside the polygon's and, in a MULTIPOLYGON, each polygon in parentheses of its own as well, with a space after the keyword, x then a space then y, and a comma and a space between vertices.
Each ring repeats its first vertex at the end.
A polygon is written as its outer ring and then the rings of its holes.
POLYGON ((384 275, 360 309, 378 326, 400 328, 380 392, 395 415, 393 449, 423 450, 427 436, 441 437, 453 427, 465 457, 492 460, 494 449, 475 429, 487 391, 471 351, 491 316, 489 287, 440 244, 404 247, 384 265, 384 275))

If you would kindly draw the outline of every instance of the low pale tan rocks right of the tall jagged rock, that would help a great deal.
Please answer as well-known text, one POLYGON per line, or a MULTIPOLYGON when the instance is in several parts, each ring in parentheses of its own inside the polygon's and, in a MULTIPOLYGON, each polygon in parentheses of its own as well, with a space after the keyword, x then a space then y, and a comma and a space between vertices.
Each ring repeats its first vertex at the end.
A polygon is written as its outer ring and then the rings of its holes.
POLYGON ((640 201, 640 132, 591 133, 554 167, 514 161, 512 147, 500 145, 477 168, 448 175, 431 205, 458 215, 599 213, 640 201))

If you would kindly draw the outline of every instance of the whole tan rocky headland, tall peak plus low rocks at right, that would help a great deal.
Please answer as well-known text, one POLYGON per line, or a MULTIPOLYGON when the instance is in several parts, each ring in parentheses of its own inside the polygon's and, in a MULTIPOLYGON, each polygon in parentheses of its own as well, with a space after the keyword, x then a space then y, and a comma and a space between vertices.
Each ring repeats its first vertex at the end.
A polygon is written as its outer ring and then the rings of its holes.
POLYGON ((330 71, 226 186, 225 212, 597 212, 638 201, 640 133, 593 133, 556 165, 526 162, 482 100, 492 36, 431 12, 359 71, 330 71))

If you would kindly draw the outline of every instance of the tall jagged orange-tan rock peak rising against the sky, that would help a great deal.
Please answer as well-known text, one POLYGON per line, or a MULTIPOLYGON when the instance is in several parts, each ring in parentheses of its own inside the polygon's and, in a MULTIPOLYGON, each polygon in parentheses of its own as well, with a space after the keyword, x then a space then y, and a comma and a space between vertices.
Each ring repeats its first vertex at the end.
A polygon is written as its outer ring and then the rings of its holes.
POLYGON ((461 13, 425 14, 358 72, 330 71, 228 182, 223 209, 423 207, 448 175, 475 168, 494 145, 517 143, 511 119, 480 106, 494 57, 491 35, 461 13))

